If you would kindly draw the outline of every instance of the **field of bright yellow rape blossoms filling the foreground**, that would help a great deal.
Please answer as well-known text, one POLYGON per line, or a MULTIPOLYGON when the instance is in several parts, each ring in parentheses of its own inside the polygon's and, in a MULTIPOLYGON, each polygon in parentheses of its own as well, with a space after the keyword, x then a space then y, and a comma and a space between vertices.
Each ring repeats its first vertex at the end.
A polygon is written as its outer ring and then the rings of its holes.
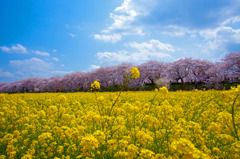
POLYGON ((0 158, 240 158, 239 94, 0 94, 0 158))

